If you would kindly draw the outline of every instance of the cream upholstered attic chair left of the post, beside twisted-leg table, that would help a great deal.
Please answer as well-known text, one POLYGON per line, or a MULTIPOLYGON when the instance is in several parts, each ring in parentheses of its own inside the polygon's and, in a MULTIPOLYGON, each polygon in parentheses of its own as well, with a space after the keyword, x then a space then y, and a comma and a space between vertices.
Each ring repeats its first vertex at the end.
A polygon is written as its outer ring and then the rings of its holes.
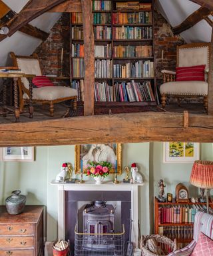
MULTIPOLYGON (((13 65, 19 67, 23 73, 42 75, 39 58, 37 55, 18 56, 10 53, 13 59, 13 65)), ((23 77, 18 80, 20 111, 23 111, 24 105, 29 102, 29 81, 23 77)), ((62 101, 73 100, 73 109, 77 109, 77 90, 63 86, 46 86, 33 88, 33 103, 49 104, 50 114, 53 116, 54 104, 62 101)))

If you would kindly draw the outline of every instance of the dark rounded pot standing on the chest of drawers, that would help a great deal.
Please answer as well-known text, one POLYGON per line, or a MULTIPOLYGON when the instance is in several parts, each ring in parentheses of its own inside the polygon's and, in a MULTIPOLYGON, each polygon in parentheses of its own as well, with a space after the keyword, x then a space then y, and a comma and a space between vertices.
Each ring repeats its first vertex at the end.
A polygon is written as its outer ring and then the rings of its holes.
POLYGON ((5 205, 9 214, 19 214, 25 209, 26 197, 25 195, 19 195, 20 193, 21 190, 15 190, 12 192, 12 195, 5 200, 5 205))

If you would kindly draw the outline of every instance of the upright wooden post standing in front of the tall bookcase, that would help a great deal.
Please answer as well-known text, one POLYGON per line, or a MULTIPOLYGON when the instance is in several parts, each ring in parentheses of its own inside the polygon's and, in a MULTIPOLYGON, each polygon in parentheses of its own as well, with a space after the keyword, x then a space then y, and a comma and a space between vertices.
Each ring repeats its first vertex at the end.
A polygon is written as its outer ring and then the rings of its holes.
POLYGON ((95 41, 91 0, 81 0, 85 45, 84 114, 94 115, 95 41))

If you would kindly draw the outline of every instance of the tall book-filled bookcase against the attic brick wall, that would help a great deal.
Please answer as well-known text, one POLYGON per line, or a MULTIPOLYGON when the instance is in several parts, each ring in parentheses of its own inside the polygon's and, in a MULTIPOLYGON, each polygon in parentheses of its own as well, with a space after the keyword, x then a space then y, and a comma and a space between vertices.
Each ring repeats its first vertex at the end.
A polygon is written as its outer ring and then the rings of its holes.
MULTIPOLYGON (((156 105, 152 0, 91 0, 95 37, 95 101, 156 105)), ((71 13, 71 87, 83 101, 82 13, 71 13)))

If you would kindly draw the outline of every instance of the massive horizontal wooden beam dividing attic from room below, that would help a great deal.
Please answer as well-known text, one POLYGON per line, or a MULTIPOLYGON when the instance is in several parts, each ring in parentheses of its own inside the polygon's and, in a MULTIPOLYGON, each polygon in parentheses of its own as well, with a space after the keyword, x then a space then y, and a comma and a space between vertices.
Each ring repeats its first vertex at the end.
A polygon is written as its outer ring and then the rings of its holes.
POLYGON ((186 121, 181 113, 147 112, 0 126, 0 147, 143 141, 213 142, 213 116, 189 115, 186 121))

